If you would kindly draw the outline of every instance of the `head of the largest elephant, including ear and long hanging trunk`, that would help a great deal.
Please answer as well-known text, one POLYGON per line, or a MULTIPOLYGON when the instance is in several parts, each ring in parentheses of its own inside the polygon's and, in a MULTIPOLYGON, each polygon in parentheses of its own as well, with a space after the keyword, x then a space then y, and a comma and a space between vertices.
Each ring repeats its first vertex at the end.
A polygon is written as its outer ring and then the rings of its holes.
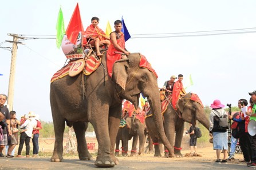
POLYGON ((171 144, 163 128, 157 75, 148 68, 140 67, 141 57, 139 53, 133 53, 127 59, 117 60, 113 66, 112 80, 118 95, 132 102, 136 109, 139 105, 140 93, 147 97, 154 113, 156 127, 159 129, 159 137, 172 153, 171 144))

